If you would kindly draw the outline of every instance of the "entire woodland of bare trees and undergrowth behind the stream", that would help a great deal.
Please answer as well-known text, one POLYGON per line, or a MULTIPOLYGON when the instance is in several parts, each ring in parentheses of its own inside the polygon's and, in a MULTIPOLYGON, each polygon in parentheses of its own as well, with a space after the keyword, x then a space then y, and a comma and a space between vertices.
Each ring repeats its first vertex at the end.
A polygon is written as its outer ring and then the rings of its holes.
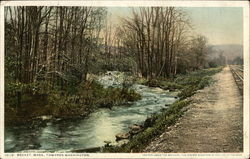
POLYGON ((141 98, 129 84, 103 88, 91 80, 107 71, 153 81, 226 64, 222 55, 208 58, 206 37, 194 34, 182 9, 129 11, 113 23, 105 7, 5 7, 6 122, 87 116, 141 98))

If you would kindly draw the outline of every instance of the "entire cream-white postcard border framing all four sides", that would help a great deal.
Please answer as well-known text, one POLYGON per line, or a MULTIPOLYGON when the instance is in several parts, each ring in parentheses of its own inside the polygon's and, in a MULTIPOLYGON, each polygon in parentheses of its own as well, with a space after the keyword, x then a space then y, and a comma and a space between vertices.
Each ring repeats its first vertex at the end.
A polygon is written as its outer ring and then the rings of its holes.
MULTIPOLYGON (((18 153, 4 153, 4 6, 176 6, 176 7, 243 7, 244 12, 244 153, 84 153, 70 158, 249 158, 249 2, 247 1, 4 1, 0 2, 0 158, 51 158, 49 153, 43 157, 18 157, 18 153), (8 155, 14 155, 8 157, 8 155), (84 155, 84 156, 79 156, 84 155)), ((20 153, 19 153, 20 154, 20 153)), ((37 153, 36 153, 37 154, 37 153)), ((38 153, 39 154, 39 153, 38 153)), ((63 157, 69 158, 60 153, 63 157)))

